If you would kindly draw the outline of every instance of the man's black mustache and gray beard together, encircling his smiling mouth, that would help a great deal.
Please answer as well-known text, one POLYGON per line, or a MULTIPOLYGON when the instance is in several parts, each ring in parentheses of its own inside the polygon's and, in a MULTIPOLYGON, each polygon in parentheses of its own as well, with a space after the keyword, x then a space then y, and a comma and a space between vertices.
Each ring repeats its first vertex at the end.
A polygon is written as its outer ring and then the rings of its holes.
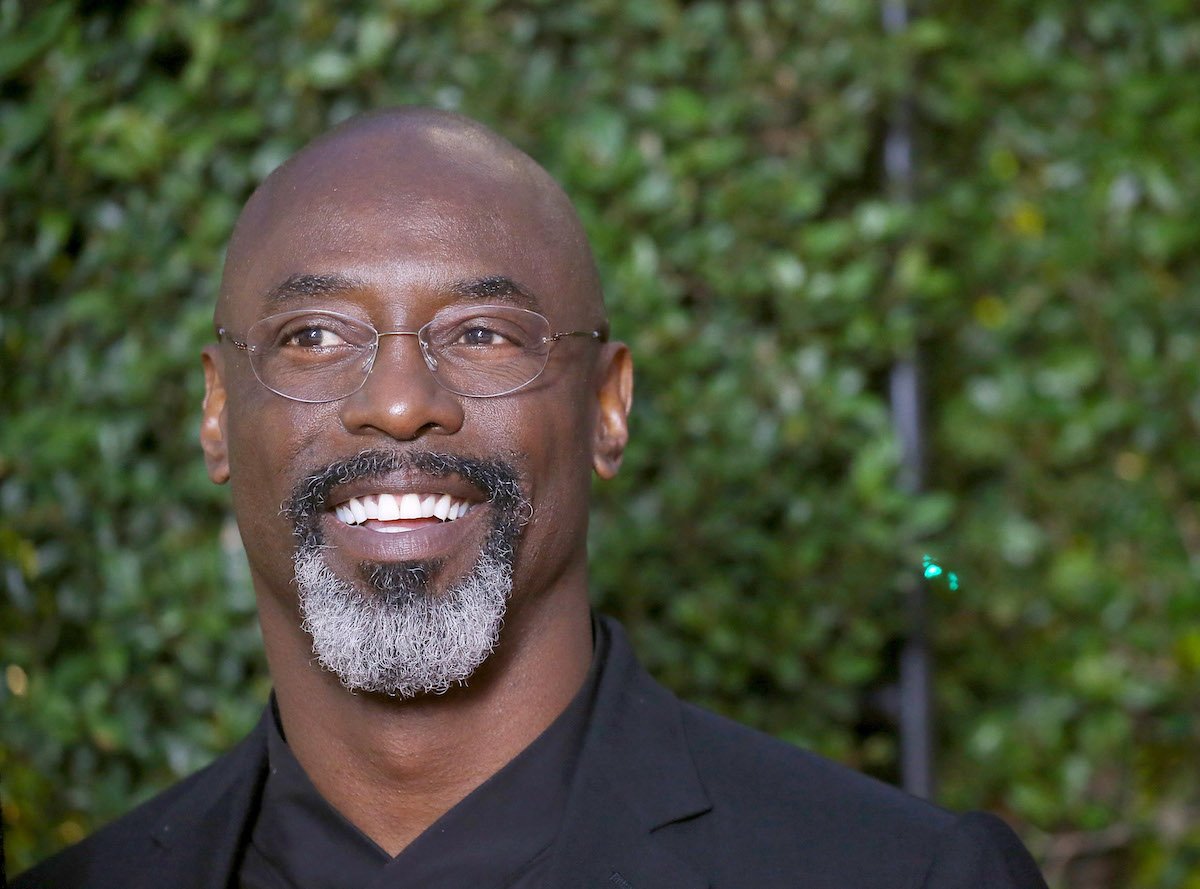
POLYGON ((412 698, 464 684, 499 642, 528 509, 516 470, 498 459, 364 451, 306 477, 283 511, 296 537, 302 629, 317 661, 352 691, 412 698), (444 567, 439 560, 362 563, 348 579, 325 559, 320 523, 332 489, 406 469, 456 475, 484 493, 492 510, 475 564, 443 590, 433 585, 444 567))

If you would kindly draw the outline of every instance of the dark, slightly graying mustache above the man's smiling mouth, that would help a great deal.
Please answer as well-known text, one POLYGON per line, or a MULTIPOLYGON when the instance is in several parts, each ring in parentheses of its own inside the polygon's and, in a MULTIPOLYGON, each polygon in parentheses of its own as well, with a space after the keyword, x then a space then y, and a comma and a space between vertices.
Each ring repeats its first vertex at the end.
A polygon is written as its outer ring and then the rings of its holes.
POLYGON ((296 483, 284 500, 282 512, 292 521, 301 547, 320 546, 320 516, 329 506, 334 488, 350 481, 382 477, 389 473, 416 471, 433 479, 458 476, 476 488, 502 516, 516 527, 506 527, 503 536, 515 534, 528 521, 532 506, 521 489, 516 468, 498 458, 484 459, 454 453, 366 450, 311 471, 296 483), (522 521, 523 519, 523 521, 522 521))

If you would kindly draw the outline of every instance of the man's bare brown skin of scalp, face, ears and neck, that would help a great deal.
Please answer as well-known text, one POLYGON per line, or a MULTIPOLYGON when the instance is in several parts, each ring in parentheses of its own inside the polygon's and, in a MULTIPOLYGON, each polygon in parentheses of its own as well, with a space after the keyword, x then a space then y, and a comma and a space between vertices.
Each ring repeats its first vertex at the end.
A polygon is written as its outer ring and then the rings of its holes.
MULTIPOLYGON (((266 295, 295 275, 355 284, 286 307, 354 314, 379 330, 415 330, 463 300, 462 282, 497 277, 518 283, 554 331, 605 323, 590 252, 557 185, 484 127, 430 112, 359 119, 272 174, 239 220, 217 323, 240 335, 282 311, 266 295)), ((270 392, 228 344, 208 347, 203 361, 200 439, 209 475, 233 487, 288 744, 320 793, 396 854, 536 738, 587 674, 590 474, 611 477, 620 464, 629 350, 568 338, 529 388, 481 400, 442 389, 414 340, 390 337, 366 385, 328 404, 270 392), (366 449, 500 456, 533 504, 500 644, 446 695, 350 693, 314 662, 300 629, 295 543, 280 504, 313 468, 366 449)), ((436 589, 473 564, 487 509, 438 539, 436 589)), ((352 543, 323 521, 329 565, 353 576, 352 543)), ((394 536, 422 546, 419 535, 394 536)))

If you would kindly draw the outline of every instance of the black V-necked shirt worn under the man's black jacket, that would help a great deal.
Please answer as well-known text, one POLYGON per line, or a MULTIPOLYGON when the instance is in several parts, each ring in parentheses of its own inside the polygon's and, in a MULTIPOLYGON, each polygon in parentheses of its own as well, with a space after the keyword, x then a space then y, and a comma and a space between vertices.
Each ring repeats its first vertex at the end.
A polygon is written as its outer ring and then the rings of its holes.
MULTIPOLYGON (((583 687, 510 763, 391 858, 325 801, 283 739, 268 729, 269 771, 239 870, 240 889, 534 889, 570 792, 606 632, 583 687)), ((272 713, 274 713, 272 701, 272 713)))

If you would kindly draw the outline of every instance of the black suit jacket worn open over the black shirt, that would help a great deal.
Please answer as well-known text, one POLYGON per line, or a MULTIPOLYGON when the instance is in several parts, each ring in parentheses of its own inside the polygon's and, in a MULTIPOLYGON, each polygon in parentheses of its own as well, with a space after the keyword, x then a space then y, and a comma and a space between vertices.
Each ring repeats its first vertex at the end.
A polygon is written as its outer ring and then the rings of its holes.
MULTIPOLYGON (((547 889, 1044 889, 1016 836, 682 703, 616 621, 547 889)), ((226 889, 265 723, 13 889, 226 889)))

